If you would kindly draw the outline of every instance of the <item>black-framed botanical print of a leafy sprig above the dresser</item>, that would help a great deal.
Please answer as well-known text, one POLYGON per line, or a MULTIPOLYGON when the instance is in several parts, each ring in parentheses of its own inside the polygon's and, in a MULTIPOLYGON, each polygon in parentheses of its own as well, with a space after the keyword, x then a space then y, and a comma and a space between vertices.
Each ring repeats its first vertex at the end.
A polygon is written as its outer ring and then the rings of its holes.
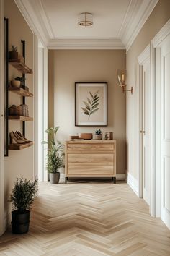
POLYGON ((75 82, 75 125, 107 126, 107 82, 75 82))

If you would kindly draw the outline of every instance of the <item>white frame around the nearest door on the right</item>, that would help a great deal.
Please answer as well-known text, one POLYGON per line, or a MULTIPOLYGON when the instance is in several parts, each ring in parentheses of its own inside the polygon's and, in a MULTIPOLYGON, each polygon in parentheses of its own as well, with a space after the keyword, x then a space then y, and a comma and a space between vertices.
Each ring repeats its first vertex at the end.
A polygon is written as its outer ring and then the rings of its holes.
POLYGON ((161 106, 161 62, 157 61, 156 63, 156 59, 161 60, 161 48, 159 46, 168 35, 170 35, 170 19, 151 41, 151 216, 153 217, 161 217, 161 125, 158 125, 161 112, 158 115, 158 109, 156 109, 161 106), (160 70, 159 73, 157 67, 160 70))

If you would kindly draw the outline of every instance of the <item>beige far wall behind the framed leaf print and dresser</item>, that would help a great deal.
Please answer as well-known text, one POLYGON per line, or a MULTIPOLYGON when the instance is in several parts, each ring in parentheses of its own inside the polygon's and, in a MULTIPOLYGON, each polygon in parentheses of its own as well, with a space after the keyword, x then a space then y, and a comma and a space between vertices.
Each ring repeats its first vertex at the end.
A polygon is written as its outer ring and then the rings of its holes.
POLYGON ((61 127, 58 131, 61 141, 79 132, 94 132, 97 127, 74 125, 74 83, 108 82, 108 126, 99 128, 103 133, 114 132, 117 173, 125 173, 125 95, 117 85, 117 69, 125 69, 124 50, 51 50, 49 125, 61 127))

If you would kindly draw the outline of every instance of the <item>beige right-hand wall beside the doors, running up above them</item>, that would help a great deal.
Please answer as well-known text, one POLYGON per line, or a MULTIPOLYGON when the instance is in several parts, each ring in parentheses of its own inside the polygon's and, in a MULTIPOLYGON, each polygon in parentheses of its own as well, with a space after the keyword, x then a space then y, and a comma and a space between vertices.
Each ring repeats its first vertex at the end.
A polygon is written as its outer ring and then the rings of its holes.
POLYGON ((138 98, 136 72, 138 56, 151 43, 153 37, 170 18, 170 1, 160 0, 127 53, 128 85, 134 87, 133 95, 127 97, 128 171, 138 179, 138 98))

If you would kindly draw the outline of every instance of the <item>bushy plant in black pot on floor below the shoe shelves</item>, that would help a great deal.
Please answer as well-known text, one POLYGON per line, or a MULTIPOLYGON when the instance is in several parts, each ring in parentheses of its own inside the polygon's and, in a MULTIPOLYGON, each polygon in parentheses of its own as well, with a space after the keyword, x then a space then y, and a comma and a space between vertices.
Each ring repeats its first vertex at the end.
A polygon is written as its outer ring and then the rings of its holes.
POLYGON ((24 234, 29 230, 30 209, 37 193, 37 179, 17 178, 10 201, 12 202, 12 233, 24 234))

